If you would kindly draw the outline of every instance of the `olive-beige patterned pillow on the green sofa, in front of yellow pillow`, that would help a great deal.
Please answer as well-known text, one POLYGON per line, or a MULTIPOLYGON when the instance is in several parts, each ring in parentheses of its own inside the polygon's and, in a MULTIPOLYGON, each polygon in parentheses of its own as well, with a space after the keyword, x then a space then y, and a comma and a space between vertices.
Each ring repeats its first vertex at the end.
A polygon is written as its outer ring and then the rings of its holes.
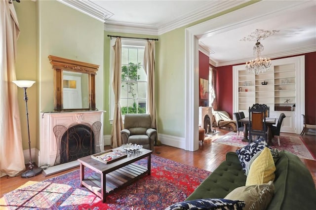
POLYGON ((237 187, 224 199, 240 200, 246 203, 243 210, 265 210, 274 195, 273 181, 267 184, 237 187))

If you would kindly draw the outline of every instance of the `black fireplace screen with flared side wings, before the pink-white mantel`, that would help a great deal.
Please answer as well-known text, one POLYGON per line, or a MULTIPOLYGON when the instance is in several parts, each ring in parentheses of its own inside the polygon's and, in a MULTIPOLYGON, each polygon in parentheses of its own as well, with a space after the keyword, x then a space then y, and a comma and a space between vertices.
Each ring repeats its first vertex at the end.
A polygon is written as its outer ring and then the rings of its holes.
POLYGON ((101 122, 95 122, 92 125, 75 124, 69 126, 68 129, 63 125, 56 125, 54 134, 58 149, 55 165, 100 152, 100 129, 101 122))

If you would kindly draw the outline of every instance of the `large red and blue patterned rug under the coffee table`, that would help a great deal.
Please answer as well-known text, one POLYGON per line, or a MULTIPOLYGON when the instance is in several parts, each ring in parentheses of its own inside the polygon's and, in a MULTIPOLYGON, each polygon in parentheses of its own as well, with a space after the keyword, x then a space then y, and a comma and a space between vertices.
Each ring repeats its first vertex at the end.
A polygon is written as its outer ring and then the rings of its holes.
MULTIPOLYGON (((147 159, 137 164, 147 167, 147 159)), ((185 200, 210 172, 152 155, 151 175, 114 191, 106 203, 80 187, 79 170, 4 195, 6 207, 49 210, 161 210, 185 200)), ((94 172, 86 169, 87 175, 94 172)), ((1 209, 1 206, 0 206, 1 209)))

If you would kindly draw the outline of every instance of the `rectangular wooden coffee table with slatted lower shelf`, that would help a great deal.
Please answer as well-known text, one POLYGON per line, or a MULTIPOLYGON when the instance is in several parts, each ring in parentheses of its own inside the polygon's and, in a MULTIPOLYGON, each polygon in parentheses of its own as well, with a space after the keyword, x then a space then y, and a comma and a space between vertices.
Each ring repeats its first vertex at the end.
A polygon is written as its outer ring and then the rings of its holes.
MULTIPOLYGON (((112 150, 120 150, 115 148, 112 150)), ((127 157, 114 161, 112 163, 102 163, 92 159, 91 156, 79 158, 80 163, 80 186, 85 186, 95 193, 105 202, 107 194, 118 187, 130 184, 132 181, 151 174, 151 154, 152 150, 140 149, 134 154, 128 154, 127 157), (134 162, 147 157, 147 167, 140 166, 134 162), (97 172, 95 175, 85 177, 84 167, 97 172)))

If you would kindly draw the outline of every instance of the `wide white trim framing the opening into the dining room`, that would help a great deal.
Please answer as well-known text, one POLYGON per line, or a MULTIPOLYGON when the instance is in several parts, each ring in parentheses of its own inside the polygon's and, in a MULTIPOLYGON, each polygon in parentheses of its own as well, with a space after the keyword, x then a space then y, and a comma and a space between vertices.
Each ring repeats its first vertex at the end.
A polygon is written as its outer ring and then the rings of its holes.
MULTIPOLYGON (((214 35, 223 31, 229 31, 249 24, 267 16, 276 16, 278 12, 284 12, 294 7, 306 6, 311 1, 259 1, 243 7, 226 15, 205 21, 185 30, 185 141, 186 149, 194 151, 198 148, 198 48, 194 43, 203 35, 214 35), (196 137, 196 138, 195 138, 196 137)), ((314 2, 312 2, 314 3, 314 2)))

